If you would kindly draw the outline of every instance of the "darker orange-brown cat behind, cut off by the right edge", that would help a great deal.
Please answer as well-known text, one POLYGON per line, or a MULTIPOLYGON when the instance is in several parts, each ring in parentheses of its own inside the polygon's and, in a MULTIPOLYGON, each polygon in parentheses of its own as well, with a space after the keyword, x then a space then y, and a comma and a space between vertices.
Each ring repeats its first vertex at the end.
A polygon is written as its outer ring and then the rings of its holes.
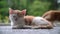
POLYGON ((54 21, 60 21, 60 10, 50 10, 44 13, 42 17, 53 24, 54 21))

